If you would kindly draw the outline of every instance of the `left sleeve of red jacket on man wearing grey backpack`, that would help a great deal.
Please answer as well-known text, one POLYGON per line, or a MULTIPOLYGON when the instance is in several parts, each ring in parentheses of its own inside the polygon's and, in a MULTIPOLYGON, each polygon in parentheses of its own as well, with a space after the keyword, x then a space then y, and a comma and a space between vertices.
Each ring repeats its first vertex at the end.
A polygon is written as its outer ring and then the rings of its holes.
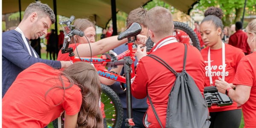
POLYGON ((131 94, 137 99, 143 99, 147 96, 148 75, 143 66, 143 62, 139 61, 136 68, 136 75, 131 84, 131 94))

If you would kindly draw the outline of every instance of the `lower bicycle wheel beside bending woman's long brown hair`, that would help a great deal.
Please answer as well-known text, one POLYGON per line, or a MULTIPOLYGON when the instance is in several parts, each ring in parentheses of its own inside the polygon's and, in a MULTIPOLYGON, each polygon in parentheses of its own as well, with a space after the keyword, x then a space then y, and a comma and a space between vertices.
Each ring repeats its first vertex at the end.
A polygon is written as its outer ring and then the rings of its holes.
POLYGON ((104 84, 100 85, 102 90, 101 102, 104 104, 104 106, 101 106, 101 109, 104 110, 107 122, 107 126, 104 126, 104 128, 121 128, 124 114, 122 103, 110 87, 104 84))

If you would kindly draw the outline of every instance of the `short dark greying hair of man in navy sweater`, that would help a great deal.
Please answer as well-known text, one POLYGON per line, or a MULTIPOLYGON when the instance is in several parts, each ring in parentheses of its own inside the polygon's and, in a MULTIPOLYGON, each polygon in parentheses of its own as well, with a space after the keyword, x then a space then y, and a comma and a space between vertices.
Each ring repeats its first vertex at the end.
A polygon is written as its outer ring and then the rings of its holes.
POLYGON ((40 1, 36 1, 35 3, 30 3, 24 12, 23 19, 26 19, 27 17, 29 17, 29 15, 31 15, 33 12, 37 13, 38 18, 49 16, 52 23, 55 23, 54 12, 47 4, 41 3, 40 1))

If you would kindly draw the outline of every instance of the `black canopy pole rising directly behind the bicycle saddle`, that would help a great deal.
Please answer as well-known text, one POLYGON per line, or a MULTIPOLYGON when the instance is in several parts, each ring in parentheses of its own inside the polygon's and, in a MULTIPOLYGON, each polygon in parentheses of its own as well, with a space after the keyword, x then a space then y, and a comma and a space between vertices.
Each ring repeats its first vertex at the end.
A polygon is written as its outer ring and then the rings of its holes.
POLYGON ((117 35, 116 0, 111 0, 111 12, 112 12, 112 23, 113 23, 113 33, 112 33, 112 36, 114 36, 114 35, 117 35))

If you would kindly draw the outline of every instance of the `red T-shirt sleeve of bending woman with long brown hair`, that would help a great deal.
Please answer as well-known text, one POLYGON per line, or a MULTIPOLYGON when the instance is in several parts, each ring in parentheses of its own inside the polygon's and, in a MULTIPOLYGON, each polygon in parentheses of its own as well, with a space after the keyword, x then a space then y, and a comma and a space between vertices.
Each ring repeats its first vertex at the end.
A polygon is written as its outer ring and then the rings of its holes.
MULTIPOLYGON (((73 85, 74 86, 74 85, 73 85)), ((81 89, 77 89, 69 98, 63 102, 63 108, 68 115, 75 115, 80 111, 82 105, 81 89)))

